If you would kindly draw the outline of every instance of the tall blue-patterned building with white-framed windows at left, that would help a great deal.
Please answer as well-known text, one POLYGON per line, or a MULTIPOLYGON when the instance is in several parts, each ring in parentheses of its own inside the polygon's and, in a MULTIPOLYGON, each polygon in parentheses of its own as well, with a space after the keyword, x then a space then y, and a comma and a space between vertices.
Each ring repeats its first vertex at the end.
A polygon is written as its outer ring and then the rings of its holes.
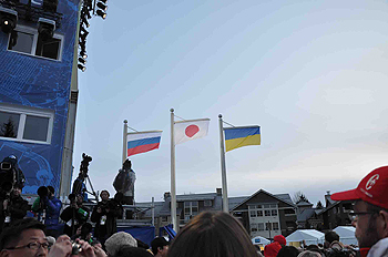
POLYGON ((0 161, 18 157, 27 194, 70 191, 79 4, 0 0, 0 161))

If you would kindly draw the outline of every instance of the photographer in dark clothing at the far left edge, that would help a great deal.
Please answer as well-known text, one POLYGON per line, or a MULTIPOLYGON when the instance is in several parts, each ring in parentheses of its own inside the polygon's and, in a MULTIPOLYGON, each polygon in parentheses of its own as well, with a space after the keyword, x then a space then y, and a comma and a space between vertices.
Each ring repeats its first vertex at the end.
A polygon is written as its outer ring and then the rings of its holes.
POLYGON ((10 195, 0 201, 0 232, 11 223, 22 219, 29 209, 28 202, 21 195, 22 186, 16 184, 10 195))

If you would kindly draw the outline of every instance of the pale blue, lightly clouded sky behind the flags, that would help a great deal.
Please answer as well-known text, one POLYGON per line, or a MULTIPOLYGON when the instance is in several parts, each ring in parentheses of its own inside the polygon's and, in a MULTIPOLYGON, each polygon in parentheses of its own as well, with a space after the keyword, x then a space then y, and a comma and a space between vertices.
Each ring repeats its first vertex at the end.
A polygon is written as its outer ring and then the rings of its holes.
POLYGON ((163 201, 172 107, 185 120, 211 119, 206 137, 176 145, 177 194, 222 186, 218 114, 262 133, 262 145, 226 153, 229 197, 302 192, 315 205, 387 165, 387 1, 108 6, 105 20, 90 21, 79 71, 73 178, 86 153, 94 189, 114 194, 127 120, 163 131, 159 150, 130 157, 135 202, 163 201))

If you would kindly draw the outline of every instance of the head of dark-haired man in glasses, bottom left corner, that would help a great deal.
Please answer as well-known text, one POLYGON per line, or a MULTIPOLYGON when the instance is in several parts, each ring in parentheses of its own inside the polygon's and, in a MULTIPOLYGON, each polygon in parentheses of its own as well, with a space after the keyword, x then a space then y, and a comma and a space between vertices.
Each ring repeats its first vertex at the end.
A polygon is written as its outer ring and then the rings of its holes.
POLYGON ((34 218, 24 218, 4 228, 0 238, 1 257, 48 256, 45 226, 34 218))

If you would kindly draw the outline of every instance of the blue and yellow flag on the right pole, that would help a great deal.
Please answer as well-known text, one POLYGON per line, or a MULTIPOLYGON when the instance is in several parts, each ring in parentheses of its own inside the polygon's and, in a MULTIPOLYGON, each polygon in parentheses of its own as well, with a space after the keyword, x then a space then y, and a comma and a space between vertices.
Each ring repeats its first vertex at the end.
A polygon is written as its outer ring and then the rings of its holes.
POLYGON ((261 144, 259 126, 224 127, 226 152, 246 145, 261 144))

